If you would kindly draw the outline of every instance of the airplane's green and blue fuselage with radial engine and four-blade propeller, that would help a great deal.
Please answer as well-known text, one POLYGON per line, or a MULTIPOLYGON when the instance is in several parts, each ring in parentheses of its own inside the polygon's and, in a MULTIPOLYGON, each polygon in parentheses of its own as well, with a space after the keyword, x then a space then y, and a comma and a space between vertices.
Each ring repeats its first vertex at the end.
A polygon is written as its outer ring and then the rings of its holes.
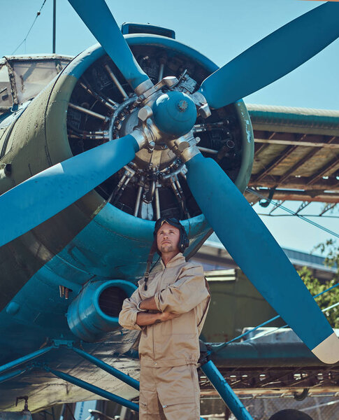
POLYGON ((14 391, 33 411, 83 400, 94 378, 102 398, 136 396, 136 382, 103 362, 138 369, 136 332, 117 329, 117 314, 143 275, 159 216, 182 220, 187 255, 212 228, 306 346, 336 363, 338 337, 243 197, 254 148, 241 98, 335 41, 338 5, 311 10, 218 69, 171 31, 120 31, 104 1, 69 1, 101 45, 1 117, 1 409, 15 409, 14 391))

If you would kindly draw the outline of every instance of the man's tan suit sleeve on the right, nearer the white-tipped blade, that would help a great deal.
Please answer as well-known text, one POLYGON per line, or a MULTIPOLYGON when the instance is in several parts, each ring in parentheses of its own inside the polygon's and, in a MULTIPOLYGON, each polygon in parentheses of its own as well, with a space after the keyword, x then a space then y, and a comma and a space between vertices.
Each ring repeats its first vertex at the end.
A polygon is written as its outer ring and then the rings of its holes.
POLYGON ((154 295, 159 311, 185 314, 198 306, 210 293, 201 265, 184 267, 177 281, 154 295))

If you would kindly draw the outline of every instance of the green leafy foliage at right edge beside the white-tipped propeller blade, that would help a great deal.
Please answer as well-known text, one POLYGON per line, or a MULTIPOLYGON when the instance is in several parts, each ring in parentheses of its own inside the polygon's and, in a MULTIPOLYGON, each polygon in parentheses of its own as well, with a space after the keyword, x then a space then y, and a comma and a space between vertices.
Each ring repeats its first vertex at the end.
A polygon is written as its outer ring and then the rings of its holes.
MULTIPOLYGON (((316 249, 319 249, 321 253, 326 255, 325 265, 328 267, 337 267, 337 271, 331 281, 320 283, 318 279, 315 279, 315 277, 312 276, 312 272, 310 272, 308 267, 303 267, 298 270, 298 274, 301 276, 301 279, 303 279, 303 282, 313 296, 339 283, 339 246, 336 245, 335 241, 330 239, 329 241, 326 241, 325 244, 319 244, 316 249)), ((319 297, 316 297, 315 300, 321 309, 325 309, 338 303, 339 286, 329 290, 329 292, 324 293, 319 297)), ((339 328, 339 305, 338 307, 329 309, 329 311, 324 311, 324 314, 333 328, 339 328)))

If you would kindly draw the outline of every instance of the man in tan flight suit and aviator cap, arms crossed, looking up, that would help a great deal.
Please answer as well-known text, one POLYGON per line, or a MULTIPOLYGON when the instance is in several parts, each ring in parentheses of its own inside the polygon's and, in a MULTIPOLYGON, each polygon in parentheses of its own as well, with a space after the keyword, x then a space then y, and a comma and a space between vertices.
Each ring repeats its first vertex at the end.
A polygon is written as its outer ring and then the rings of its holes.
POLYGON ((203 267, 182 256, 188 244, 177 219, 159 219, 145 279, 120 312, 120 325, 141 330, 140 420, 200 418, 196 364, 210 293, 203 267), (156 250, 161 269, 148 278, 156 250))

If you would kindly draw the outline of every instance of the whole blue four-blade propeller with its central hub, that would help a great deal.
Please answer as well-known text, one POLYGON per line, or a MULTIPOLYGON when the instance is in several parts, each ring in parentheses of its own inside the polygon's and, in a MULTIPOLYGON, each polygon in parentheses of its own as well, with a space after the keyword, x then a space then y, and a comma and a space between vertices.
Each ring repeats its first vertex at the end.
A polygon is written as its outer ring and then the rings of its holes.
POLYGON ((338 337, 238 188, 214 160, 203 158, 192 127, 197 113, 209 116, 210 108, 218 109, 272 83, 334 41, 339 36, 339 5, 326 3, 278 29, 215 71, 197 92, 187 95, 173 90, 175 78, 153 85, 104 0, 95 4, 69 1, 136 93, 138 125, 127 136, 111 138, 106 144, 45 169, 2 195, 0 211, 7 223, 0 246, 78 200, 133 160, 140 148, 152 152, 155 145, 166 144, 185 162, 187 182, 196 202, 239 267, 320 360, 336 363, 338 337), (10 219, 4 214, 8 208, 10 219), (22 221, 20 226, 17 220, 22 221), (240 226, 243 233, 239 233, 240 226))

